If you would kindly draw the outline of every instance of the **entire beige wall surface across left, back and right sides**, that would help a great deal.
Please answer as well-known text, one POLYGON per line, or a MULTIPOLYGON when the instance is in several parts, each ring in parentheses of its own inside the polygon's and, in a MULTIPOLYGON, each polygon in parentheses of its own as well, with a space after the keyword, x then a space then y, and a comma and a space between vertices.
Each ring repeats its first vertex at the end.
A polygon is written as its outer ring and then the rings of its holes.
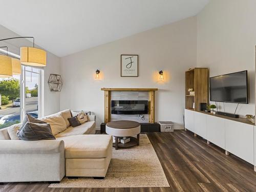
MULTIPOLYGON (((102 87, 159 88, 156 121, 172 120, 182 126, 184 71, 208 67, 210 76, 248 70, 249 104, 240 104, 238 114, 254 114, 254 62, 256 1, 214 0, 195 17, 122 38, 108 44, 59 58, 48 52, 45 68, 45 114, 59 109, 90 110, 103 122, 102 87), (120 77, 120 54, 139 55, 139 77, 120 77), (61 65, 60 65, 61 63, 61 65), (99 69, 100 80, 94 79, 99 69), (158 71, 164 71, 159 82, 158 71), (61 93, 50 92, 50 73, 61 73, 61 93)), ((103 34, 104 32, 102 32, 103 34)), ((17 36, 0 26, 1 37, 17 36)), ((30 43, 21 41, 20 44, 30 43)), ((9 49, 18 52, 16 41, 9 49)), ((220 103, 221 110, 223 104, 220 103)), ((236 104, 226 103, 227 112, 236 104)))

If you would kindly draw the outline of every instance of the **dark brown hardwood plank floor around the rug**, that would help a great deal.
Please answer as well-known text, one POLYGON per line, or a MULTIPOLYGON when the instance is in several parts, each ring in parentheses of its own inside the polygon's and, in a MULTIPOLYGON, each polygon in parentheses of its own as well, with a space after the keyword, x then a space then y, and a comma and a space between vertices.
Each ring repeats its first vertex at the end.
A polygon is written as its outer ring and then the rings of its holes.
POLYGON ((48 183, 7 183, 3 191, 256 191, 253 165, 191 132, 147 133, 170 187, 48 188, 48 183))

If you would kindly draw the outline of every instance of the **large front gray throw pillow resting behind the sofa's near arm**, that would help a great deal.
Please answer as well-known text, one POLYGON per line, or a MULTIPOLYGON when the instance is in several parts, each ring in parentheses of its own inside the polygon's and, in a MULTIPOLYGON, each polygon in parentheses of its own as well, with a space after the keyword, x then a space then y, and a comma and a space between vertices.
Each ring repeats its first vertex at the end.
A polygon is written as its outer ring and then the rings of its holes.
POLYGON ((27 122, 17 135, 19 139, 26 141, 55 139, 49 123, 27 122))

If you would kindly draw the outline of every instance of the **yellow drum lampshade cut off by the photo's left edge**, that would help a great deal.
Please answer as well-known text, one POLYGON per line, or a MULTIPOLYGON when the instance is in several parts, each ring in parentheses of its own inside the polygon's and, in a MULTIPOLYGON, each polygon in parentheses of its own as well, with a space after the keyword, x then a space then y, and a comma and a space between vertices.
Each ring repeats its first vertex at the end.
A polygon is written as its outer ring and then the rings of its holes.
POLYGON ((12 76, 12 59, 11 57, 0 55, 0 78, 12 76))

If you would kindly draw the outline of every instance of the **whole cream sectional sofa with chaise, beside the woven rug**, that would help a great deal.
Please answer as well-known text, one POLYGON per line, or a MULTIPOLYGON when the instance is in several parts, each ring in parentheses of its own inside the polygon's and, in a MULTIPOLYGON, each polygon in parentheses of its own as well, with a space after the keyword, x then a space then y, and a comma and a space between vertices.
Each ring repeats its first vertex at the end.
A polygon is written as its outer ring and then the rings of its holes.
POLYGON ((71 111, 40 118, 50 123, 56 140, 23 141, 20 124, 0 130, 0 182, 59 182, 68 177, 105 177, 112 157, 112 136, 94 135, 95 116, 77 127, 71 111), (14 129, 15 127, 15 129, 14 129))

